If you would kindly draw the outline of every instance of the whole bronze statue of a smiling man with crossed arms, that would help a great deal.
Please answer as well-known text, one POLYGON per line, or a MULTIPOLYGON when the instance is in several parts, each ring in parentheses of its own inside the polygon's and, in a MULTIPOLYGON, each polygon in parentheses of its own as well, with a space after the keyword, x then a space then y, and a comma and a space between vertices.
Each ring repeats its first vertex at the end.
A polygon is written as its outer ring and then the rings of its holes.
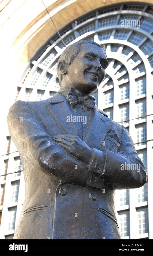
POLYGON ((114 190, 143 186, 146 173, 127 129, 90 96, 107 65, 100 45, 78 41, 58 60, 61 88, 54 97, 10 108, 8 127, 25 177, 14 239, 121 239, 114 190), (140 170, 123 171, 123 164, 140 170))

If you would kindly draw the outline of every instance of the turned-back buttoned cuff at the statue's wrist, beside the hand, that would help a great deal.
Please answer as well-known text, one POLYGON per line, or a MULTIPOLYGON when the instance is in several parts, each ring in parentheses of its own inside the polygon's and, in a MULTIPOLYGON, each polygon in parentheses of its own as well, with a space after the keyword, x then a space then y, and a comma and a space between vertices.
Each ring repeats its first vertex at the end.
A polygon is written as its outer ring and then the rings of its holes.
POLYGON ((106 160, 106 150, 101 151, 96 148, 92 148, 92 158, 89 164, 89 172, 95 173, 97 178, 100 178, 105 172, 106 160))

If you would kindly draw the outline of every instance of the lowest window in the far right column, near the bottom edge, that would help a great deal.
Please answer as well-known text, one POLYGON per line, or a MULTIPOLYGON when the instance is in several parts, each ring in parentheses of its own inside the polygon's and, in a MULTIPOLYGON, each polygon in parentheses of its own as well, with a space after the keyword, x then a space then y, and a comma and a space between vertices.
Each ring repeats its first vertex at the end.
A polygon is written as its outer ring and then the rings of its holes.
POLYGON ((138 209, 138 233, 144 234, 149 232, 148 228, 148 208, 138 209))

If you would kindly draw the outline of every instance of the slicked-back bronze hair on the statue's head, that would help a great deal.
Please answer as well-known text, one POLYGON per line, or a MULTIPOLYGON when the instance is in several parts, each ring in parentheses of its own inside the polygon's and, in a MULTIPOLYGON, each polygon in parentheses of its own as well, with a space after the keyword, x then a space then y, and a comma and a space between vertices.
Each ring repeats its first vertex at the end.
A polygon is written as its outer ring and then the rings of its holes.
MULTIPOLYGON (((76 58, 77 54, 79 53, 80 49, 81 49, 81 45, 83 44, 93 44, 93 45, 96 45, 98 47, 100 47, 103 51, 104 49, 101 47, 101 45, 97 44, 96 42, 94 41, 91 41, 91 40, 79 40, 75 43, 73 43, 72 45, 69 45, 61 54, 61 56, 59 57, 58 59, 58 62, 57 62, 57 76, 58 76, 58 79, 59 79, 59 85, 62 81, 62 74, 58 68, 58 64, 61 62, 61 61, 65 61, 66 62, 66 65, 69 66, 72 61, 74 60, 74 58, 76 58)), ((105 53, 105 51, 104 51, 105 53)), ((105 53, 106 55, 106 53, 105 53)))

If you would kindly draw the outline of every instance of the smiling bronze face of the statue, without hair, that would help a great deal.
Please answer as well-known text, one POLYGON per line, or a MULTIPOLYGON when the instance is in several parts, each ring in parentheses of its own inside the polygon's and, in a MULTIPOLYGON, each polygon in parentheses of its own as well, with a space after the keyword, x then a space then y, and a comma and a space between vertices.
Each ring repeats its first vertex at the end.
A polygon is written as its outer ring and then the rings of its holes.
POLYGON ((68 83, 80 92, 96 91, 105 77, 107 63, 103 49, 90 43, 81 45, 79 53, 67 68, 68 83))

